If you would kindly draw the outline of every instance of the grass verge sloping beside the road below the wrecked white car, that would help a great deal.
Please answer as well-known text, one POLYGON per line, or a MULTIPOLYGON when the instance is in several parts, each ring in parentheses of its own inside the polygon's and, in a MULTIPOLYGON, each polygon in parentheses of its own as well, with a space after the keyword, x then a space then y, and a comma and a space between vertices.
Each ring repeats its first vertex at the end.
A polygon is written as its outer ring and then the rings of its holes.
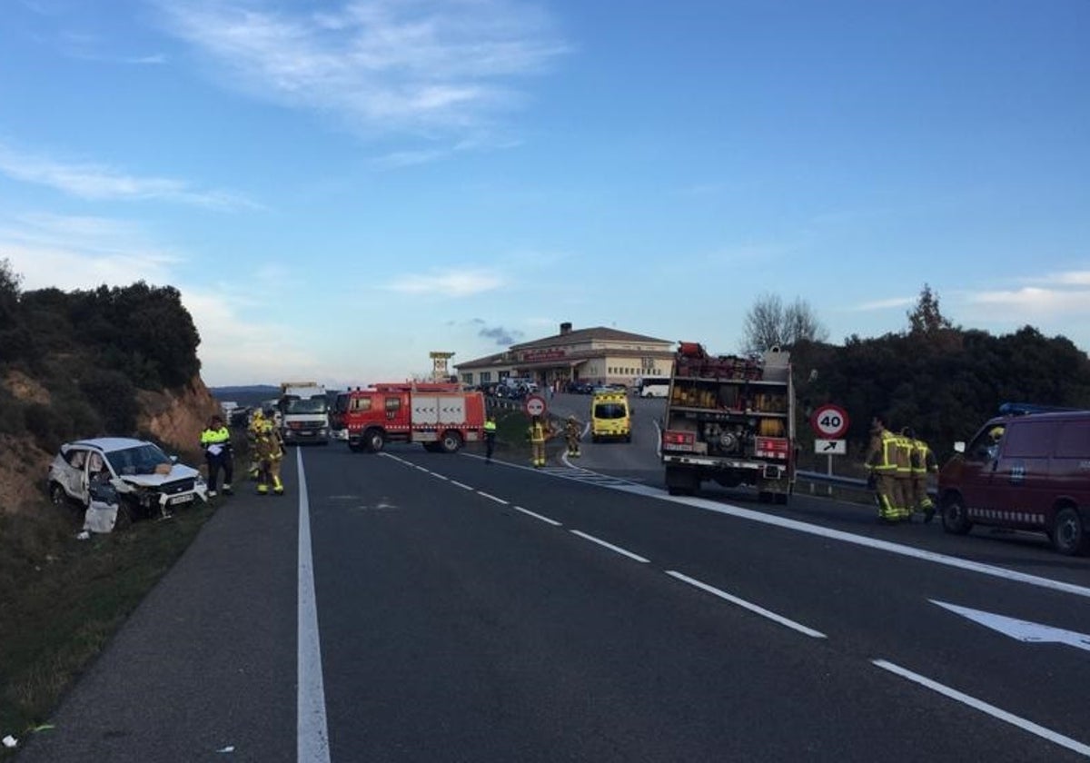
MULTIPOLYGON (((198 501, 87 541, 75 538, 80 512, 45 501, 36 513, 0 514, 0 737, 22 747, 48 722, 214 510, 198 501)), ((0 748, 0 761, 16 751, 0 748)))

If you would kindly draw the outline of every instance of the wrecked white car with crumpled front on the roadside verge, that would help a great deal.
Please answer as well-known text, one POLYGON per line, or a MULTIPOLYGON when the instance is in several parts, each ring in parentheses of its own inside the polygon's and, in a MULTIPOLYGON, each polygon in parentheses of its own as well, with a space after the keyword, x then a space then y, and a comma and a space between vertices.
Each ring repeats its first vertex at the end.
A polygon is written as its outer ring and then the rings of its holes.
POLYGON ((178 463, 159 446, 130 437, 97 437, 65 443, 49 467, 49 498, 56 505, 86 508, 95 481, 117 491, 130 519, 169 514, 197 498, 207 501, 207 485, 192 467, 178 463))

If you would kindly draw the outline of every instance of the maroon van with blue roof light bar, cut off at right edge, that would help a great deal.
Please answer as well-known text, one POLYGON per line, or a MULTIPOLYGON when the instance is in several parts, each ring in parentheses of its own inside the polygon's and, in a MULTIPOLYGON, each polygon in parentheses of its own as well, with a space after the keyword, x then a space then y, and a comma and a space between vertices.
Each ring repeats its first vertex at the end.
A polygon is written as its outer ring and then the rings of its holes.
POLYGON ((946 532, 1030 530, 1061 554, 1090 552, 1090 411, 998 416, 955 449, 938 472, 946 532))

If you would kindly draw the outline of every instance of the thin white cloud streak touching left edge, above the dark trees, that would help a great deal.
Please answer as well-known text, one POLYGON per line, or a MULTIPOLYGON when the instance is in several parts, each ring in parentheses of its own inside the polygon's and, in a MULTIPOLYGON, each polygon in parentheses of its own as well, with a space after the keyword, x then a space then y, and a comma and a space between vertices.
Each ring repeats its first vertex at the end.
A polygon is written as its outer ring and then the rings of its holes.
POLYGON ((255 208, 226 191, 197 191, 168 178, 141 178, 92 162, 64 162, 20 153, 0 143, 0 172, 15 180, 48 185, 89 199, 162 199, 213 209, 255 208))

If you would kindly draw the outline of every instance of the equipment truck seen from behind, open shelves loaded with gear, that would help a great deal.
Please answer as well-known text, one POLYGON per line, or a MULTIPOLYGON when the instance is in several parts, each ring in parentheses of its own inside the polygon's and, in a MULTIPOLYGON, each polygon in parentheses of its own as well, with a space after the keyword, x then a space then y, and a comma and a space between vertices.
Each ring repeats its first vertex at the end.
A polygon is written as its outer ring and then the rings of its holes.
POLYGON ((670 495, 692 495, 712 480, 751 485, 762 502, 787 502, 795 486, 795 387, 786 350, 739 358, 680 342, 663 422, 670 495))

